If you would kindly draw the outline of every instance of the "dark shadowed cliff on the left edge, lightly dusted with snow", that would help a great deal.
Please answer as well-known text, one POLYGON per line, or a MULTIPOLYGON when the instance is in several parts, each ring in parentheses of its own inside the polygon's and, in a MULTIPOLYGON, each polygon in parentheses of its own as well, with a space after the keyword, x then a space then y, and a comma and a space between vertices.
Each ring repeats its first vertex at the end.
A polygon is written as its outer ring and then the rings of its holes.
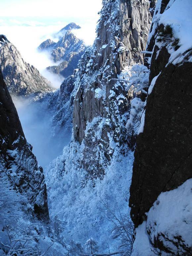
POLYGON ((43 170, 27 143, 16 108, 0 73, 0 172, 23 194, 34 212, 48 220, 43 170))

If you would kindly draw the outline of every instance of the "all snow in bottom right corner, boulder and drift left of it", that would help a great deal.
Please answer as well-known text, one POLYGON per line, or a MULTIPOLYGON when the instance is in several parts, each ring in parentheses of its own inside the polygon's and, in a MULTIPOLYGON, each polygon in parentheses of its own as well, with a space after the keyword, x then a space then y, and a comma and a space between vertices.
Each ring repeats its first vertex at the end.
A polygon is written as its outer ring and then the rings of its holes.
POLYGON ((147 221, 136 229, 132 256, 191 255, 191 216, 192 179, 189 179, 159 195, 147 221))

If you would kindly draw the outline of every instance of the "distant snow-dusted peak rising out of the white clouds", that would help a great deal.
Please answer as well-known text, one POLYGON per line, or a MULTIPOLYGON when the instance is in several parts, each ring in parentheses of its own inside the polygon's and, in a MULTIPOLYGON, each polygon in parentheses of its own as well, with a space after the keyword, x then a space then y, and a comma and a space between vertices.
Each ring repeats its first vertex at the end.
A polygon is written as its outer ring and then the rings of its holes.
POLYGON ((39 45, 38 49, 48 51, 56 63, 55 66, 47 67, 48 71, 63 77, 73 74, 73 70, 77 68, 78 61, 86 49, 83 40, 77 38, 71 31, 79 28, 75 23, 70 23, 57 33, 58 42, 47 39, 39 45))

